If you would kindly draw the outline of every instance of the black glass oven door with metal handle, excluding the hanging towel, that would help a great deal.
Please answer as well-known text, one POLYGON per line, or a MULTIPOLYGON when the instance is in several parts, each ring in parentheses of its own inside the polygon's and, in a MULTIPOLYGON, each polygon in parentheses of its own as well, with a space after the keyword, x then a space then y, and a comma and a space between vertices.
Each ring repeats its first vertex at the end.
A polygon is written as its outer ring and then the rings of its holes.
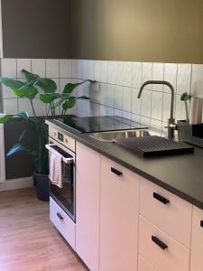
POLYGON ((50 138, 48 148, 62 154, 62 188, 51 183, 51 197, 75 222, 75 154, 59 142, 50 138))

